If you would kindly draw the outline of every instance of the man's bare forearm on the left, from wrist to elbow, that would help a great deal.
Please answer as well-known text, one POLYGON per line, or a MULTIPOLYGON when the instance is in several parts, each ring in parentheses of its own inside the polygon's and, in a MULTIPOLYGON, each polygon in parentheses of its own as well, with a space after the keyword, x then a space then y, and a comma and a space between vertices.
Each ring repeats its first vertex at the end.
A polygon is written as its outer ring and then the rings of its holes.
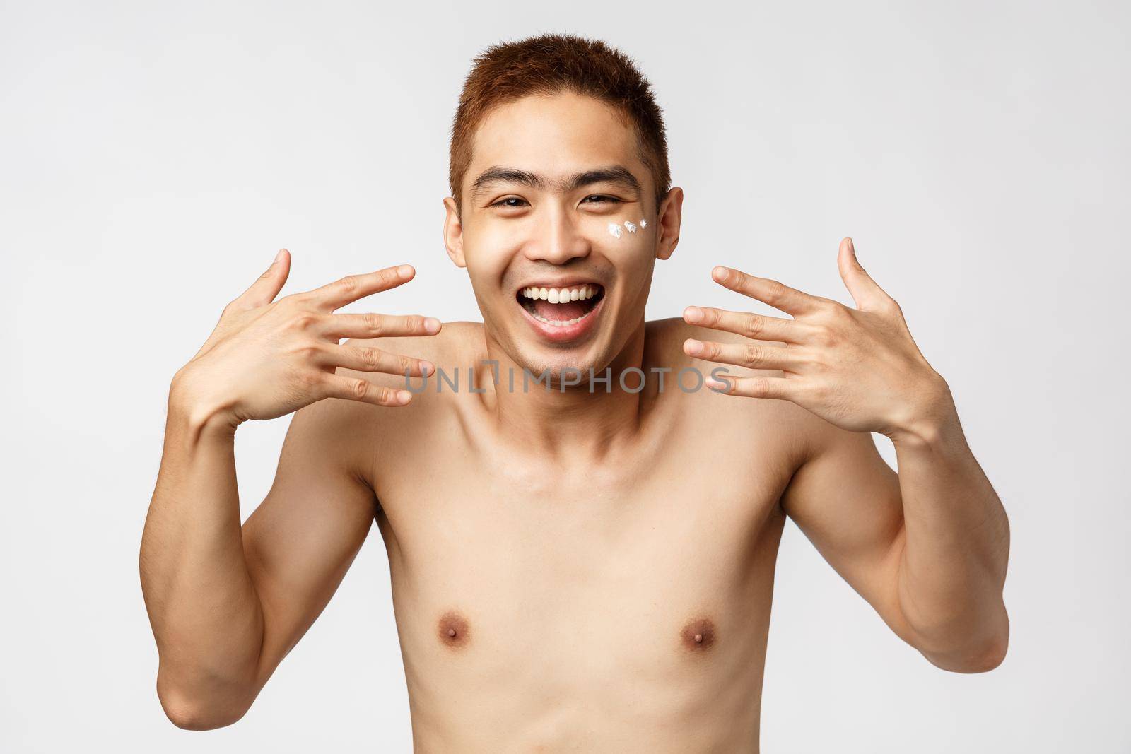
POLYGON ((243 553, 234 428, 175 382, 140 571, 166 712, 185 727, 233 721, 250 703, 264 635, 243 553))

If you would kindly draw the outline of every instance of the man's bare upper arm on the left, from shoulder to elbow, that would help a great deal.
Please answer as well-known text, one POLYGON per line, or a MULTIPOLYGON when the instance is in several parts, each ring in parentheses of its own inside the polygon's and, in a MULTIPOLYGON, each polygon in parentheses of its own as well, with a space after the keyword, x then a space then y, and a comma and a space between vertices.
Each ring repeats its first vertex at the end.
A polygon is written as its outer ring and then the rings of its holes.
POLYGON ((243 525, 264 615, 261 682, 321 614, 373 522, 375 499, 352 458, 352 410, 327 399, 294 415, 271 488, 243 525))

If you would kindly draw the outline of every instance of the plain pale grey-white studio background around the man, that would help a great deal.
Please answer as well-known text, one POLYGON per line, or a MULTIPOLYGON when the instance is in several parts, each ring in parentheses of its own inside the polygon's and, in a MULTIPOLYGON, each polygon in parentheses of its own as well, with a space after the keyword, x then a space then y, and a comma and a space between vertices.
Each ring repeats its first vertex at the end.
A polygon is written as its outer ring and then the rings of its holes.
MULTIPOLYGON (((411 747, 375 529, 241 722, 165 720, 137 549, 166 390, 284 245, 286 292, 408 261, 374 307, 477 319, 450 118, 478 50, 546 31, 621 46, 666 109, 685 222, 649 317, 742 305, 715 263, 847 302, 854 236, 1010 514, 1009 657, 977 676, 791 525, 765 751, 1131 748, 1125 5, 31 5, 0 10, 0 749, 411 747)), ((244 515, 286 426, 239 432, 244 515)))

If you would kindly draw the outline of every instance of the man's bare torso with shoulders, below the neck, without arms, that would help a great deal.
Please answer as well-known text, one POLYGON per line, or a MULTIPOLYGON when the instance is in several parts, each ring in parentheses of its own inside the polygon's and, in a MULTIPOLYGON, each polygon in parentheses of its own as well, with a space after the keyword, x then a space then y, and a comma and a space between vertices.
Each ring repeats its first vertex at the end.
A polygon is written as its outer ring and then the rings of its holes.
POLYGON ((461 390, 430 383, 395 427, 356 434, 416 751, 757 751, 803 411, 683 392, 696 328, 651 322, 644 369, 674 367, 664 391, 649 381, 601 462, 570 462, 508 442, 491 392, 467 391, 482 331, 444 328, 433 357, 461 390))

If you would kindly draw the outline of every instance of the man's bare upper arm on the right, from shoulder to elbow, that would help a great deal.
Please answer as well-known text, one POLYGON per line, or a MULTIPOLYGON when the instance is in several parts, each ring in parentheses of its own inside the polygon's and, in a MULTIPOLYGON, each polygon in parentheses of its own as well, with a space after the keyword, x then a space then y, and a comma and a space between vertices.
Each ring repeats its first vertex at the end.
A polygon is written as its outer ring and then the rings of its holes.
POLYGON ((907 639, 896 591, 904 541, 899 478, 870 433, 821 424, 783 508, 837 573, 907 639))

